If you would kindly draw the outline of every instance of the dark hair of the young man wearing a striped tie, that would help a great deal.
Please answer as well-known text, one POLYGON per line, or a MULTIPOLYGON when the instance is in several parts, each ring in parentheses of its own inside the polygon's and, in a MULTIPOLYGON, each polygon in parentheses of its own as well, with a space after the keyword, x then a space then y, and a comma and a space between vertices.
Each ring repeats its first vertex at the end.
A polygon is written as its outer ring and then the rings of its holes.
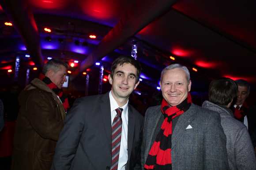
POLYGON ((112 66, 111 66, 111 73, 110 73, 111 78, 113 79, 114 71, 115 71, 115 69, 117 69, 117 66, 118 65, 123 66, 125 63, 130 63, 137 69, 136 83, 138 83, 140 72, 141 72, 141 67, 140 67, 139 61, 137 61, 135 58, 133 58, 130 55, 121 55, 120 57, 115 59, 115 61, 113 62, 112 66))

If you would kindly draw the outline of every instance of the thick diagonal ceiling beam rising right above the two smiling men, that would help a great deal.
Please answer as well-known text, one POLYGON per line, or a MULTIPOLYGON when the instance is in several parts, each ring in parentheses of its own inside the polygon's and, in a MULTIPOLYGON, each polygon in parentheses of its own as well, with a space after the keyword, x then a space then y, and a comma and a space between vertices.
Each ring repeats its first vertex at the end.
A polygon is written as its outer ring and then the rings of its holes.
POLYGON ((169 10, 178 0, 137 0, 120 21, 109 31, 91 54, 73 72, 70 80, 90 68, 96 61, 113 52, 130 37, 134 36, 154 19, 169 10))

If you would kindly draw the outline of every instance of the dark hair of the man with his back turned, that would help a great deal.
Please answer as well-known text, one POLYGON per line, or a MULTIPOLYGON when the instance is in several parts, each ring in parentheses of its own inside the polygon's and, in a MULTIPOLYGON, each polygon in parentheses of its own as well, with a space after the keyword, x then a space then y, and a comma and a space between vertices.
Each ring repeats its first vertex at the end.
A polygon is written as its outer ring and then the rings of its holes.
POLYGON ((209 101, 214 104, 227 106, 237 96, 237 83, 230 78, 221 77, 211 82, 209 101))

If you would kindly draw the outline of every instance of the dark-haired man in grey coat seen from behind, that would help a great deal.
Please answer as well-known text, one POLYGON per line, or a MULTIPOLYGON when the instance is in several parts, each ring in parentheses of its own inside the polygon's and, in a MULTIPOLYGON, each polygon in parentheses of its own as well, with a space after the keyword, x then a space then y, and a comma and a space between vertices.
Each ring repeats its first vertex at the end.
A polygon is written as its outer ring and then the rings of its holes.
POLYGON ((234 118, 230 109, 233 98, 237 96, 237 89, 237 84, 230 78, 213 80, 209 87, 209 101, 204 101, 202 107, 220 114, 227 137, 230 170, 255 170, 256 157, 248 130, 244 123, 234 118))

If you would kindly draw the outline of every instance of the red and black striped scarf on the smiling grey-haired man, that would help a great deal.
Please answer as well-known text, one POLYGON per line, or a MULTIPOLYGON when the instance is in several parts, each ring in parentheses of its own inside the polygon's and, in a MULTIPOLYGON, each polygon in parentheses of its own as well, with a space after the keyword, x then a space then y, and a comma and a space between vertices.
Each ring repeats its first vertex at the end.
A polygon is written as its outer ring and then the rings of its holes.
POLYGON ((192 104, 190 93, 188 97, 177 106, 168 106, 165 99, 162 100, 162 113, 164 122, 147 156, 145 168, 148 170, 171 170, 171 148, 172 148, 172 119, 186 112, 192 104))

